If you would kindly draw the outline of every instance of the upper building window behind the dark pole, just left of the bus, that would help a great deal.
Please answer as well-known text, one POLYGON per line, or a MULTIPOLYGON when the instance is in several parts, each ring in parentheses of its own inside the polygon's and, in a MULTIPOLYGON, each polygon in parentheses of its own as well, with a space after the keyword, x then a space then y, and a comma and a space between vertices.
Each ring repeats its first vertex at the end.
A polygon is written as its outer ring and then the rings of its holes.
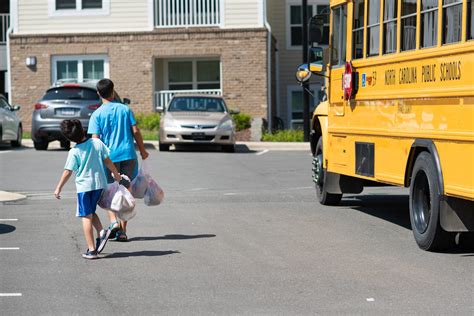
MULTIPOLYGON (((287 23, 287 47, 290 49, 301 49, 303 43, 303 17, 300 1, 292 1, 294 4, 289 4, 288 8, 288 23, 287 23)), ((328 14, 324 21, 324 34, 327 37, 323 38, 319 45, 328 45, 329 42, 329 5, 313 3, 308 5, 307 9, 308 21, 315 14, 328 14)))

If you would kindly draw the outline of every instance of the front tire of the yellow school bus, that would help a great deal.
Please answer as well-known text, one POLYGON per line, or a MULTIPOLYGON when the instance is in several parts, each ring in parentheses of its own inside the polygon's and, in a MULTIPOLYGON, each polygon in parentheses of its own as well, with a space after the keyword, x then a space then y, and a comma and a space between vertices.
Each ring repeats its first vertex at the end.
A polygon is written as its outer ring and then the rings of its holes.
POLYGON ((323 168, 323 138, 319 137, 313 155, 313 180, 316 187, 316 196, 322 205, 339 205, 342 193, 328 193, 325 186, 326 169, 323 168))

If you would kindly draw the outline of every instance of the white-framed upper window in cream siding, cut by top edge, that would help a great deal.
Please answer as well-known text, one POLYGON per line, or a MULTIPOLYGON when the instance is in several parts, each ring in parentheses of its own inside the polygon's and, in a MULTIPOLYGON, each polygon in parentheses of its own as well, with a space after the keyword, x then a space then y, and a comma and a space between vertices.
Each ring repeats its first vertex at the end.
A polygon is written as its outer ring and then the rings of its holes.
POLYGON ((108 15, 110 0, 48 0, 49 16, 108 15))

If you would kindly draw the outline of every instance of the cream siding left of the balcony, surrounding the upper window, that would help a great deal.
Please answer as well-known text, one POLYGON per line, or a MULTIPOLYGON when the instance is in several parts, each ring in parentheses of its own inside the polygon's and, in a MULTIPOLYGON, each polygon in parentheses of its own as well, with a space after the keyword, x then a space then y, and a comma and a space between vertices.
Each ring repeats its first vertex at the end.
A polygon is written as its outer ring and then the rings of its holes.
POLYGON ((148 0, 110 0, 108 15, 50 16, 48 0, 18 0, 17 34, 149 30, 148 0))

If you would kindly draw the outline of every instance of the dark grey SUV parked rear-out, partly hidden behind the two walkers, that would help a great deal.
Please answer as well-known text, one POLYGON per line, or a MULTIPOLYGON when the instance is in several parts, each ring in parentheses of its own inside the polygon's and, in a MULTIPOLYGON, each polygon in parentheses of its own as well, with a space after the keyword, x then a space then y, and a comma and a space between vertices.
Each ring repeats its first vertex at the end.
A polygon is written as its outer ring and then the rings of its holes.
MULTIPOLYGON (((117 94, 116 98, 120 100, 117 94)), ((130 100, 121 102, 128 104, 130 100)), ((69 148, 70 142, 61 134, 61 122, 79 119, 87 131, 92 113, 100 106, 95 82, 65 83, 49 88, 33 111, 31 138, 35 149, 46 150, 55 140, 59 140, 62 148, 69 148)))

